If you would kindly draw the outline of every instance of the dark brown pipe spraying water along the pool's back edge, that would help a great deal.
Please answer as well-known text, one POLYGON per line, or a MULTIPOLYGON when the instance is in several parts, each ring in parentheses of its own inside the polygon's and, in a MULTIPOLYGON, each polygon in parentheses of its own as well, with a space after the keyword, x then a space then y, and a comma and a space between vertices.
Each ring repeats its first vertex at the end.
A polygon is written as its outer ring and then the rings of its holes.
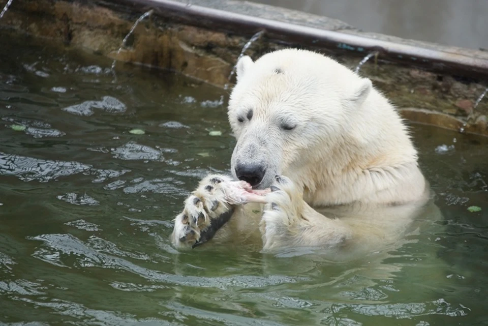
POLYGON ((171 0, 106 0, 105 3, 125 3, 139 12, 154 9, 158 16, 175 22, 232 32, 237 35, 252 35, 265 30, 266 37, 269 39, 309 44, 315 47, 324 46, 328 49, 352 50, 364 55, 379 51, 383 60, 424 67, 451 75, 481 79, 488 76, 488 59, 463 54, 327 31, 171 0))

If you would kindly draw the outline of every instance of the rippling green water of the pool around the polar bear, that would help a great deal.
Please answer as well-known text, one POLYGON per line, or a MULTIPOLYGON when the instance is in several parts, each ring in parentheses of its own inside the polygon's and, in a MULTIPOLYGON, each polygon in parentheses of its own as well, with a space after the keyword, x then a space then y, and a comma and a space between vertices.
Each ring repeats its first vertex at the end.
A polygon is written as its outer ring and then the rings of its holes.
POLYGON ((113 82, 101 57, 0 44, 1 324, 488 324, 487 139, 413 126, 444 217, 382 261, 177 253, 182 200, 229 168, 227 94, 121 64, 113 82))

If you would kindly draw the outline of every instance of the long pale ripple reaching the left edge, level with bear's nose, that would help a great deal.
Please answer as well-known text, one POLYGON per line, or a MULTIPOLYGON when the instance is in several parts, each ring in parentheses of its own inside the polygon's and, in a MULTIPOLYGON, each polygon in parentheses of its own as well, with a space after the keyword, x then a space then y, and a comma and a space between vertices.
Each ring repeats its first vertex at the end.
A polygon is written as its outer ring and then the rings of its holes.
POLYGON ((42 160, 27 156, 6 154, 0 152, 0 175, 16 176, 22 181, 49 182, 61 176, 82 173, 95 175, 93 182, 103 182, 107 179, 121 176, 130 170, 102 170, 92 165, 75 161, 42 160))

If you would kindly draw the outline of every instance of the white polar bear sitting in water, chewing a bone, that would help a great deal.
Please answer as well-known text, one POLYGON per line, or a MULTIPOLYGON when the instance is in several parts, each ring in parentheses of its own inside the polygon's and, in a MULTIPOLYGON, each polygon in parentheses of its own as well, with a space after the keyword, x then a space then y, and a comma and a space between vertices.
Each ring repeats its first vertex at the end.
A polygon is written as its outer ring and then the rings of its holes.
POLYGON ((243 56, 236 78, 232 176, 209 175, 188 197, 175 247, 215 236, 258 239, 264 251, 357 252, 405 235, 429 185, 402 118, 369 79, 298 49, 243 56))

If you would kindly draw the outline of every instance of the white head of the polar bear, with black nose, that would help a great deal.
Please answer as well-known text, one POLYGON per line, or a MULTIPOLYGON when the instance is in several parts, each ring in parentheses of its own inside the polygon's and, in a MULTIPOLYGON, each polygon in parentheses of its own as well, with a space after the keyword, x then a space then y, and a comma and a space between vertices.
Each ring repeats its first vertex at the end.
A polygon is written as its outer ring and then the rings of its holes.
POLYGON ((256 189, 277 174, 295 179, 292 173, 313 169, 311 162, 332 160, 327 154, 372 90, 369 79, 304 50, 271 52, 256 62, 244 56, 236 70, 228 108, 237 139, 231 171, 256 189))

